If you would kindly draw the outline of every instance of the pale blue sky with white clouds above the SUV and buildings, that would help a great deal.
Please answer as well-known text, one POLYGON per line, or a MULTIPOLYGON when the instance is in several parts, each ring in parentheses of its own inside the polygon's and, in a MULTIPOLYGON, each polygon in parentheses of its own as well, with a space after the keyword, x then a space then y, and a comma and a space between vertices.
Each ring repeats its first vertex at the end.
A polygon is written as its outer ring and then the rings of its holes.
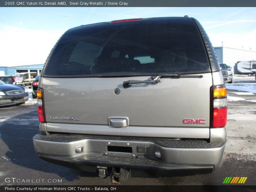
POLYGON ((203 25, 213 46, 256 51, 255 7, 0 8, 0 66, 43 64, 69 28, 128 18, 188 15, 203 25))

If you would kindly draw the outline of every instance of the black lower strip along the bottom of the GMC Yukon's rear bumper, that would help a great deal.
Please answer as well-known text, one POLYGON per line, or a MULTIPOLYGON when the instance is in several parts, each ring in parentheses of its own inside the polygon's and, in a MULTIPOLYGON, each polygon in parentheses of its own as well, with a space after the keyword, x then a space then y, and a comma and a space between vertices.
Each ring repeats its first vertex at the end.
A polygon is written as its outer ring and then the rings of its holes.
POLYGON ((82 171, 96 172, 96 166, 121 167, 132 170, 146 170, 152 175, 158 176, 177 176, 177 175, 194 175, 207 174, 213 172, 215 166, 212 164, 174 164, 153 159, 154 157, 145 158, 124 158, 111 156, 97 156, 88 154, 79 157, 61 157, 39 155, 40 158, 70 168, 80 169, 82 171), (89 170, 89 169, 91 170, 89 170))

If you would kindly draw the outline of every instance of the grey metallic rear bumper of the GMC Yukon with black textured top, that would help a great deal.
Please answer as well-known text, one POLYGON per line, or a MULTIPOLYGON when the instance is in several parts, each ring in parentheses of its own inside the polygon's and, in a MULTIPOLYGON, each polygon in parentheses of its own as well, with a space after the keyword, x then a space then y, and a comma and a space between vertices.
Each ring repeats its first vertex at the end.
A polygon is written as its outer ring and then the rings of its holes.
POLYGON ((92 135, 35 135, 38 156, 58 163, 122 166, 138 169, 199 169, 220 164, 225 142, 121 138, 92 135), (118 147, 118 150, 110 150, 118 147), (139 150, 142 148, 143 150, 139 150), (129 148, 129 151, 124 150, 129 148), (79 149, 79 150, 78 150, 79 149), (108 151, 109 150, 109 151, 108 151))

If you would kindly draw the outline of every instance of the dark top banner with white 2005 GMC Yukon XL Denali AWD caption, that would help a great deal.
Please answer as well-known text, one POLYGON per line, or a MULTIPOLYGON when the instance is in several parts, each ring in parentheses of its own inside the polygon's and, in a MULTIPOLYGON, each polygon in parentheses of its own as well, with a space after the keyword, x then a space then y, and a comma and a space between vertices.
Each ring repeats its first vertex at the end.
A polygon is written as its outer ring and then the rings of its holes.
POLYGON ((0 7, 255 7, 255 0, 1 0, 0 7))

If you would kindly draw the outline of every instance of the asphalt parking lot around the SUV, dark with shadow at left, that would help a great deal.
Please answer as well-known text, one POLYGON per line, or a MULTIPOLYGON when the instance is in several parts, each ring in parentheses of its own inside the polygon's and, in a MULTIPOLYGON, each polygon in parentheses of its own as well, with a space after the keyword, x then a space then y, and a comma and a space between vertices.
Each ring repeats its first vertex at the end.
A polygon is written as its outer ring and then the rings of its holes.
MULTIPOLYGON (((255 94, 236 92, 229 90, 228 95, 246 100, 228 102, 228 141, 217 170, 207 175, 171 178, 131 178, 130 175, 121 185, 221 185, 226 177, 247 177, 244 185, 255 185, 256 102, 248 101, 255 99, 255 94)), ((39 122, 36 99, 32 101, 28 105, 0 107, 0 185, 112 185, 109 177, 100 179, 97 174, 51 164, 37 157, 32 138, 39 132, 39 122)))

